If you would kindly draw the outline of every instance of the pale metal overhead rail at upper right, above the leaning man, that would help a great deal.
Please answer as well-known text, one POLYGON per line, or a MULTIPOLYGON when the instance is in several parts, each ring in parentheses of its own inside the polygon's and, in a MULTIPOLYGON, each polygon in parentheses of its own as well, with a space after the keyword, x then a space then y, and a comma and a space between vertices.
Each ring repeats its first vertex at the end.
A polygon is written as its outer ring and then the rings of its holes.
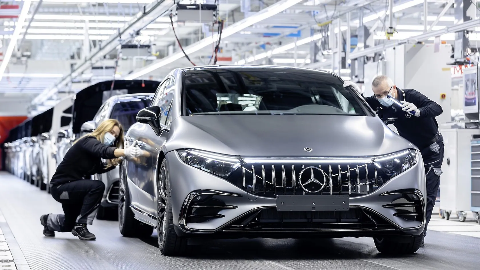
POLYGON ((360 51, 352 52, 348 57, 349 57, 349 59, 356 59, 356 58, 366 56, 366 55, 369 55, 369 54, 372 54, 372 53, 375 53, 375 52, 383 51, 384 49, 393 48, 393 47, 401 45, 401 44, 406 44, 411 40, 424 41, 424 40, 427 40, 431 37, 438 37, 438 36, 442 36, 442 35, 448 34, 448 33, 463 31, 463 30, 466 30, 468 28, 475 27, 475 26, 480 26, 480 19, 471 20, 471 21, 468 21, 466 23, 458 24, 458 25, 454 25, 454 26, 448 26, 448 27, 445 27, 442 30, 430 31, 430 32, 427 32, 427 33, 420 34, 418 36, 407 38, 407 39, 385 42, 382 45, 378 45, 378 46, 363 49, 363 50, 360 50, 360 51))

